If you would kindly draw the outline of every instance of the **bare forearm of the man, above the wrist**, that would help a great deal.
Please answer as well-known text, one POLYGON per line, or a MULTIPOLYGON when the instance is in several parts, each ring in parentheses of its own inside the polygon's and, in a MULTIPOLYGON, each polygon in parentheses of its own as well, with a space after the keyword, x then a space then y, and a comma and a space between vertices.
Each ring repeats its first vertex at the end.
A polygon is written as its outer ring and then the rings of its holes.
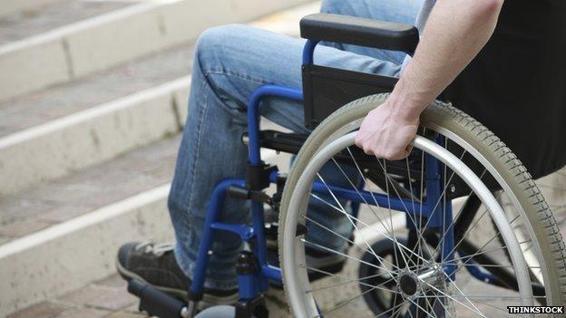
POLYGON ((503 0, 438 0, 389 98, 395 110, 417 118, 487 43, 502 5, 503 0))

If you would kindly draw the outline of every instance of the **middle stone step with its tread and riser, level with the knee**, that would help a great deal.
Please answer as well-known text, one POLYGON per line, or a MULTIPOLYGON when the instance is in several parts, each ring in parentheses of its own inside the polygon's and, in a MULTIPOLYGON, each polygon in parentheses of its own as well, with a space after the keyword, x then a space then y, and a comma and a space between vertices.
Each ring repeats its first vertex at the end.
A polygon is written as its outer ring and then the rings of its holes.
MULTIPOLYGON (((298 35, 301 5, 252 22, 298 35)), ((160 140, 186 116, 194 44, 0 102, 0 198, 160 140)))

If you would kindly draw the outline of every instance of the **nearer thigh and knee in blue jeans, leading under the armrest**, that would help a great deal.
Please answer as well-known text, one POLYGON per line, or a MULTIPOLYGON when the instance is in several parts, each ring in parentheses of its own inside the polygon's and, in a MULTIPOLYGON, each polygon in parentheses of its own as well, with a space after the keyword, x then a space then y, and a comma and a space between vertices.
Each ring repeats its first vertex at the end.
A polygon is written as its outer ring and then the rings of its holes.
MULTIPOLYGON (((268 83, 300 89, 305 41, 246 25, 212 28, 200 37, 197 59, 201 72, 229 111, 245 111, 251 94, 268 83)), ((397 63, 319 46, 315 63, 360 72, 396 76, 397 63)), ((302 103, 269 99, 262 115, 290 130, 303 131, 302 103)), ((239 116, 241 118, 241 116, 239 116)), ((244 123, 242 123, 244 124, 244 123)))

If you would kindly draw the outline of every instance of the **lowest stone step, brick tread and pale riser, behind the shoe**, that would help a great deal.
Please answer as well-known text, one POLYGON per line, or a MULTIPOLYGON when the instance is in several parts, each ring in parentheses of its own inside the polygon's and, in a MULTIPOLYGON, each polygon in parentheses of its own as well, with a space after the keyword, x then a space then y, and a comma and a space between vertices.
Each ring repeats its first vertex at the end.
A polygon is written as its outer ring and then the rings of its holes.
MULTIPOLYGON (((171 240, 166 199, 179 142, 161 140, 0 201, 0 316, 111 275, 127 241, 171 240)), ((288 167, 288 155, 262 153, 288 167)))

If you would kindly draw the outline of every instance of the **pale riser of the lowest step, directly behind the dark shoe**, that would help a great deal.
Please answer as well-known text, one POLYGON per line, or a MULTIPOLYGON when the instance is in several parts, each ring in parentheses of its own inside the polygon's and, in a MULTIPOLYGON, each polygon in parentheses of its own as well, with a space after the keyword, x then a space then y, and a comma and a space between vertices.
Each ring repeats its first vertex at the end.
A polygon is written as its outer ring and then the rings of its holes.
POLYGON ((0 317, 115 273, 125 242, 173 239, 169 186, 0 246, 0 317))

